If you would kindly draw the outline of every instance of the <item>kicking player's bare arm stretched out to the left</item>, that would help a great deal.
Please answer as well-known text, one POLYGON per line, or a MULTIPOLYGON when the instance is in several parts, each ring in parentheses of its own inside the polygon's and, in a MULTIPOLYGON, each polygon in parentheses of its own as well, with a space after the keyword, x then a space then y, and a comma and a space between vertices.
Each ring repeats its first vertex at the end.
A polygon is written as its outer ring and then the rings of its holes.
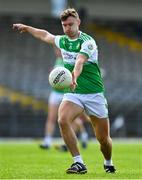
POLYGON ((25 24, 13 24, 13 29, 17 29, 20 33, 28 32, 35 38, 38 38, 49 44, 55 44, 55 36, 46 30, 27 26, 25 24))

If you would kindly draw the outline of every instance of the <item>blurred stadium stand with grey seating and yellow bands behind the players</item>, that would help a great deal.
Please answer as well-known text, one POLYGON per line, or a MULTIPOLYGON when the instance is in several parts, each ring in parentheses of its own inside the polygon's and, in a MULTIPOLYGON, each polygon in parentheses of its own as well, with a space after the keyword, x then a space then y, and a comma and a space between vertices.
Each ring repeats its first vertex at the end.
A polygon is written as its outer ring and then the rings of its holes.
POLYGON ((98 44, 112 137, 142 137, 142 0, 0 0, 0 137, 43 136, 55 61, 51 46, 12 24, 62 34, 66 7, 77 9, 80 30, 98 44))

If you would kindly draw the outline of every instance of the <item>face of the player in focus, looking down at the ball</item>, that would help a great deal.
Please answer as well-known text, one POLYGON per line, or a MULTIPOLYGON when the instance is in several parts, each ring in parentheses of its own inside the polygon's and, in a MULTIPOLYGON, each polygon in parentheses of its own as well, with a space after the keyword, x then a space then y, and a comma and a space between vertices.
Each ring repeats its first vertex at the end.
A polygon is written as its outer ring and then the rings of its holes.
POLYGON ((64 33, 71 39, 78 37, 80 20, 72 16, 68 17, 65 21, 62 21, 62 27, 64 33))

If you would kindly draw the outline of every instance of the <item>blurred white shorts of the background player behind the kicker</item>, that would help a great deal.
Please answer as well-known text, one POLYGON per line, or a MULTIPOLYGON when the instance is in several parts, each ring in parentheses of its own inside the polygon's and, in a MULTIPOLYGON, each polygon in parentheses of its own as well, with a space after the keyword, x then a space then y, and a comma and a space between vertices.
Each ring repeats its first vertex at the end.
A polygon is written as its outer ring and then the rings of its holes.
POLYGON ((48 103, 53 105, 59 105, 63 99, 63 93, 52 91, 49 95, 48 103))

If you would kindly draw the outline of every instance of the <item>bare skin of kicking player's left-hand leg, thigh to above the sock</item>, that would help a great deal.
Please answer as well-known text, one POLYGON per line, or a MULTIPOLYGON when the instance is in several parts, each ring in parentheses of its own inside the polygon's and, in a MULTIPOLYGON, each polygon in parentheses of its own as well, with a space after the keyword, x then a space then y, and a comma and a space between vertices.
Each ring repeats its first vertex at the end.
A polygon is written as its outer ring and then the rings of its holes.
POLYGON ((72 128, 72 121, 81 114, 83 109, 72 102, 64 101, 59 107, 58 122, 62 137, 72 156, 79 155, 77 138, 72 128))

